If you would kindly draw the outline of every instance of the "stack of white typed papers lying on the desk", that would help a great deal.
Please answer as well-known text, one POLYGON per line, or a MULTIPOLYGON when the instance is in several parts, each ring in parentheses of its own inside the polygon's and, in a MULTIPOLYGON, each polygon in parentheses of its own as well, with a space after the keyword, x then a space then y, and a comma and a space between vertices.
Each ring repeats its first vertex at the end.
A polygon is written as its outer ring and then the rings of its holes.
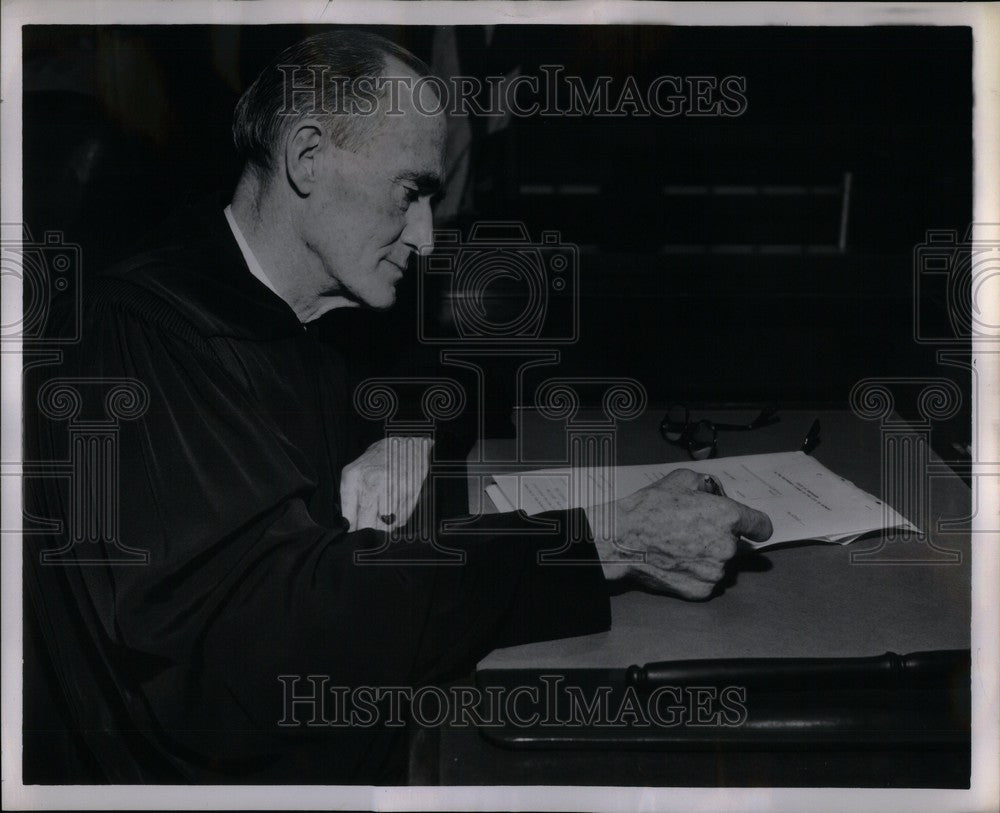
POLYGON ((750 543, 758 549, 801 540, 847 544, 886 528, 917 530, 890 506, 802 452, 498 474, 486 493, 498 510, 532 516, 613 502, 680 468, 711 474, 727 497, 771 518, 771 538, 750 543))

